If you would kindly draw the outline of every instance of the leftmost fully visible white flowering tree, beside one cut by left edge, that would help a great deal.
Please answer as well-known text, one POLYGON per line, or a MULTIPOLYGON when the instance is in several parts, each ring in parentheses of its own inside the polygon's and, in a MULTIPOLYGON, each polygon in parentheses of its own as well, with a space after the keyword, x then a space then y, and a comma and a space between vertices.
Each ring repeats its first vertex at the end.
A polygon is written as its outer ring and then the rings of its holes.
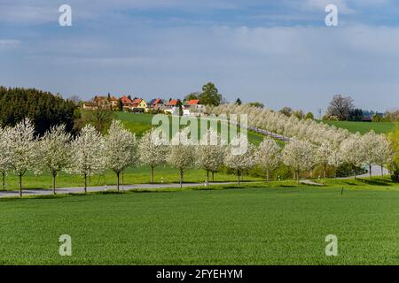
POLYGON ((35 139, 35 127, 30 119, 24 119, 10 130, 8 142, 12 150, 12 171, 19 178, 22 196, 22 177, 28 171, 39 172, 39 152, 35 139))

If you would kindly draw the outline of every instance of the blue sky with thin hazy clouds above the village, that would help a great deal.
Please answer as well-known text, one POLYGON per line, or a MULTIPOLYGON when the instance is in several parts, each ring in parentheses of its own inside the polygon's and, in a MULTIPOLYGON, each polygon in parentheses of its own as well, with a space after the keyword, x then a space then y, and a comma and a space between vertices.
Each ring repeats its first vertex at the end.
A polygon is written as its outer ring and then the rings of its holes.
POLYGON ((229 101, 398 108, 394 0, 2 0, 0 85, 63 96, 183 97, 215 82, 229 101), (73 26, 59 27, 69 4, 73 26), (339 27, 325 26, 336 4, 339 27))

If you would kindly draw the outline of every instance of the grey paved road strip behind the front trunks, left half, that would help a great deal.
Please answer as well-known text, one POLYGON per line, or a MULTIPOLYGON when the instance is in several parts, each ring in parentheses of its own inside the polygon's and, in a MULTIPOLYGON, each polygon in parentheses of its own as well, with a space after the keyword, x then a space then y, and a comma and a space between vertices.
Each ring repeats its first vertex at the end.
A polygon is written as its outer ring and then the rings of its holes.
MULTIPOLYGON (((234 184, 233 182, 218 182, 214 183, 215 185, 229 185, 234 184)), ((209 183, 211 186, 212 183, 209 183)), ((183 187, 200 187, 205 186, 205 183, 184 183, 183 187)), ((172 184, 137 184, 137 185, 121 185, 120 189, 130 190, 130 189, 157 189, 157 188, 168 188, 168 187, 180 187, 180 184, 172 183, 172 184)), ((108 187, 87 187, 88 192, 103 192, 105 190, 116 190, 116 186, 108 186, 108 187)), ((52 195, 51 189, 26 189, 23 190, 23 195, 52 195)), ((83 187, 63 187, 57 189, 58 195, 65 194, 77 194, 84 193, 83 187)), ((12 196, 20 196, 20 191, 0 191, 0 197, 12 197, 12 196)))

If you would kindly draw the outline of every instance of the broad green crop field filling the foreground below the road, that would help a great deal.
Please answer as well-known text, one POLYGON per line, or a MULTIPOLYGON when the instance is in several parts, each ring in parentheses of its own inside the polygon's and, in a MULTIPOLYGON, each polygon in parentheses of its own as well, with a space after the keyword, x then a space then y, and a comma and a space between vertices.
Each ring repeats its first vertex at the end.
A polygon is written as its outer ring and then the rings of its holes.
POLYGON ((0 264, 399 264, 399 191, 367 182, 0 200, 0 264))

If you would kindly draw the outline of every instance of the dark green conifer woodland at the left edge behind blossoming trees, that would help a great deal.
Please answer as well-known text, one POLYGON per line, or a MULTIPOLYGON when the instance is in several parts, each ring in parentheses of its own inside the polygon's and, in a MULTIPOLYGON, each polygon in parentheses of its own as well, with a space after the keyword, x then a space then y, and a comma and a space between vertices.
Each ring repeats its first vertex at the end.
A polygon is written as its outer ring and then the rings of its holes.
POLYGON ((75 108, 74 102, 35 88, 0 87, 1 126, 15 126, 29 118, 38 135, 59 124, 66 125, 66 131, 73 133, 75 108))

